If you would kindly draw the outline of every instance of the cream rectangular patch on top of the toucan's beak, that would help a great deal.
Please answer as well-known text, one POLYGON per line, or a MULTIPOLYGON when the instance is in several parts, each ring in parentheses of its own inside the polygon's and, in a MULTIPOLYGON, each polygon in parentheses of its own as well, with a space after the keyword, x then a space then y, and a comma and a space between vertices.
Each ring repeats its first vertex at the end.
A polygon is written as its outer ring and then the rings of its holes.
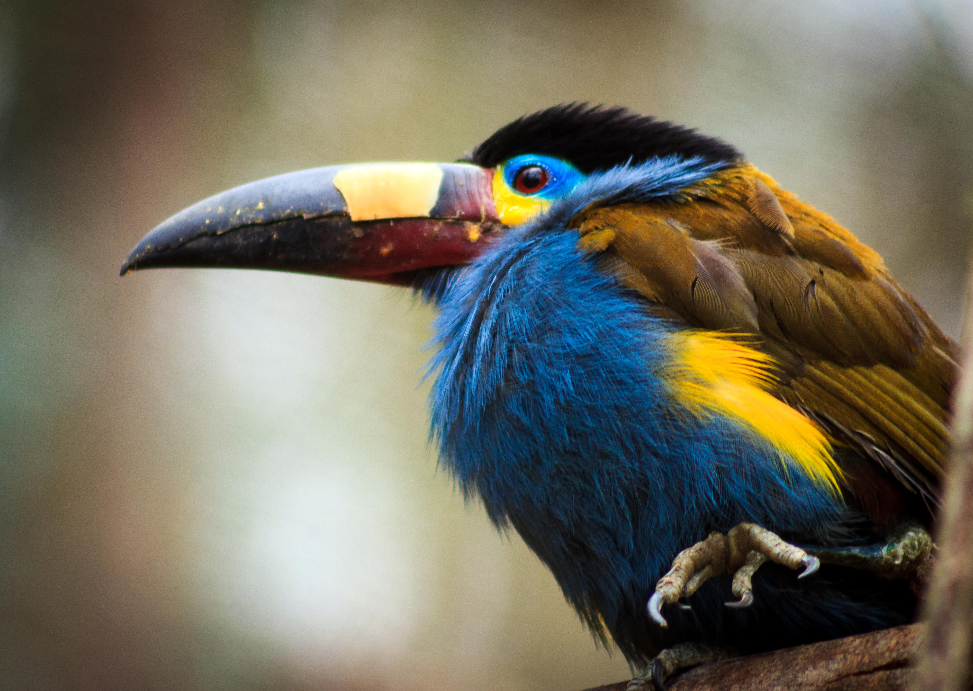
POLYGON ((334 184, 352 221, 427 217, 439 199, 437 164, 361 164, 339 170, 334 184))

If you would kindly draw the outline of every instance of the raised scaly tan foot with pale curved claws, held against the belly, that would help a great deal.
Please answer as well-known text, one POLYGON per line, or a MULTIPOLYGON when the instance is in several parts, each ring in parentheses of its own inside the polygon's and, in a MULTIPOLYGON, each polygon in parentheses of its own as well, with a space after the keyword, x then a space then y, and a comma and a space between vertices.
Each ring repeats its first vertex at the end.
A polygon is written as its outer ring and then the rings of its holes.
MULTIPOLYGON (((728 607, 749 607, 753 603, 751 579, 761 564, 771 560, 789 568, 803 568, 798 578, 810 576, 817 570, 817 558, 800 547, 784 542, 770 530, 752 523, 741 523, 726 534, 710 533, 680 552, 668 573, 659 579, 656 592, 649 599, 649 616, 661 627, 667 627, 662 614, 664 602, 672 603, 693 595, 713 576, 730 571, 733 594, 739 600, 727 602, 728 607)), ((680 604, 689 608, 689 605, 680 604)))

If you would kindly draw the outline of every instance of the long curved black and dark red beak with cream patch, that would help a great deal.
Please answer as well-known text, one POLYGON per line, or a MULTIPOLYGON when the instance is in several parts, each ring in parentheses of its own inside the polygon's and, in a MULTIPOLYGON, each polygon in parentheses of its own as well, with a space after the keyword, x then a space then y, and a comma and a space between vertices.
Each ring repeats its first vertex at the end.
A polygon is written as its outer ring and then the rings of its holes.
POLYGON ((122 265, 316 273, 408 285, 470 262, 503 230, 493 171, 471 164, 353 164, 252 182, 199 201, 122 265))

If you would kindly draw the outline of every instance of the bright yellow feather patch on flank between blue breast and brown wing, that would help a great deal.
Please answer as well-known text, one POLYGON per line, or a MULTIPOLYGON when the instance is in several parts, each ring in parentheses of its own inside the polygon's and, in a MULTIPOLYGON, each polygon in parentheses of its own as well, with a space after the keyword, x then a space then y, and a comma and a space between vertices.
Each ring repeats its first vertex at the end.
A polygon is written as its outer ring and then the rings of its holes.
POLYGON ((774 359, 739 337, 681 331, 670 337, 672 361, 663 373, 675 400, 697 418, 724 416, 765 439, 787 467, 793 461, 829 492, 839 491, 841 469, 824 432, 769 390, 774 359))

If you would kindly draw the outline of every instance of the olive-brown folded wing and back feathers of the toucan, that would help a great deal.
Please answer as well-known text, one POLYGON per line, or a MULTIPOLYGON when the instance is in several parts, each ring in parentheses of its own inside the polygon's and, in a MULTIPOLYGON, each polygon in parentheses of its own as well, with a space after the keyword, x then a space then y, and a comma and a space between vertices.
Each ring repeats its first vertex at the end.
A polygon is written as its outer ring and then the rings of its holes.
POLYGON ((832 218, 742 165, 571 226, 659 313, 755 337, 777 397, 936 501, 956 345, 832 218))

